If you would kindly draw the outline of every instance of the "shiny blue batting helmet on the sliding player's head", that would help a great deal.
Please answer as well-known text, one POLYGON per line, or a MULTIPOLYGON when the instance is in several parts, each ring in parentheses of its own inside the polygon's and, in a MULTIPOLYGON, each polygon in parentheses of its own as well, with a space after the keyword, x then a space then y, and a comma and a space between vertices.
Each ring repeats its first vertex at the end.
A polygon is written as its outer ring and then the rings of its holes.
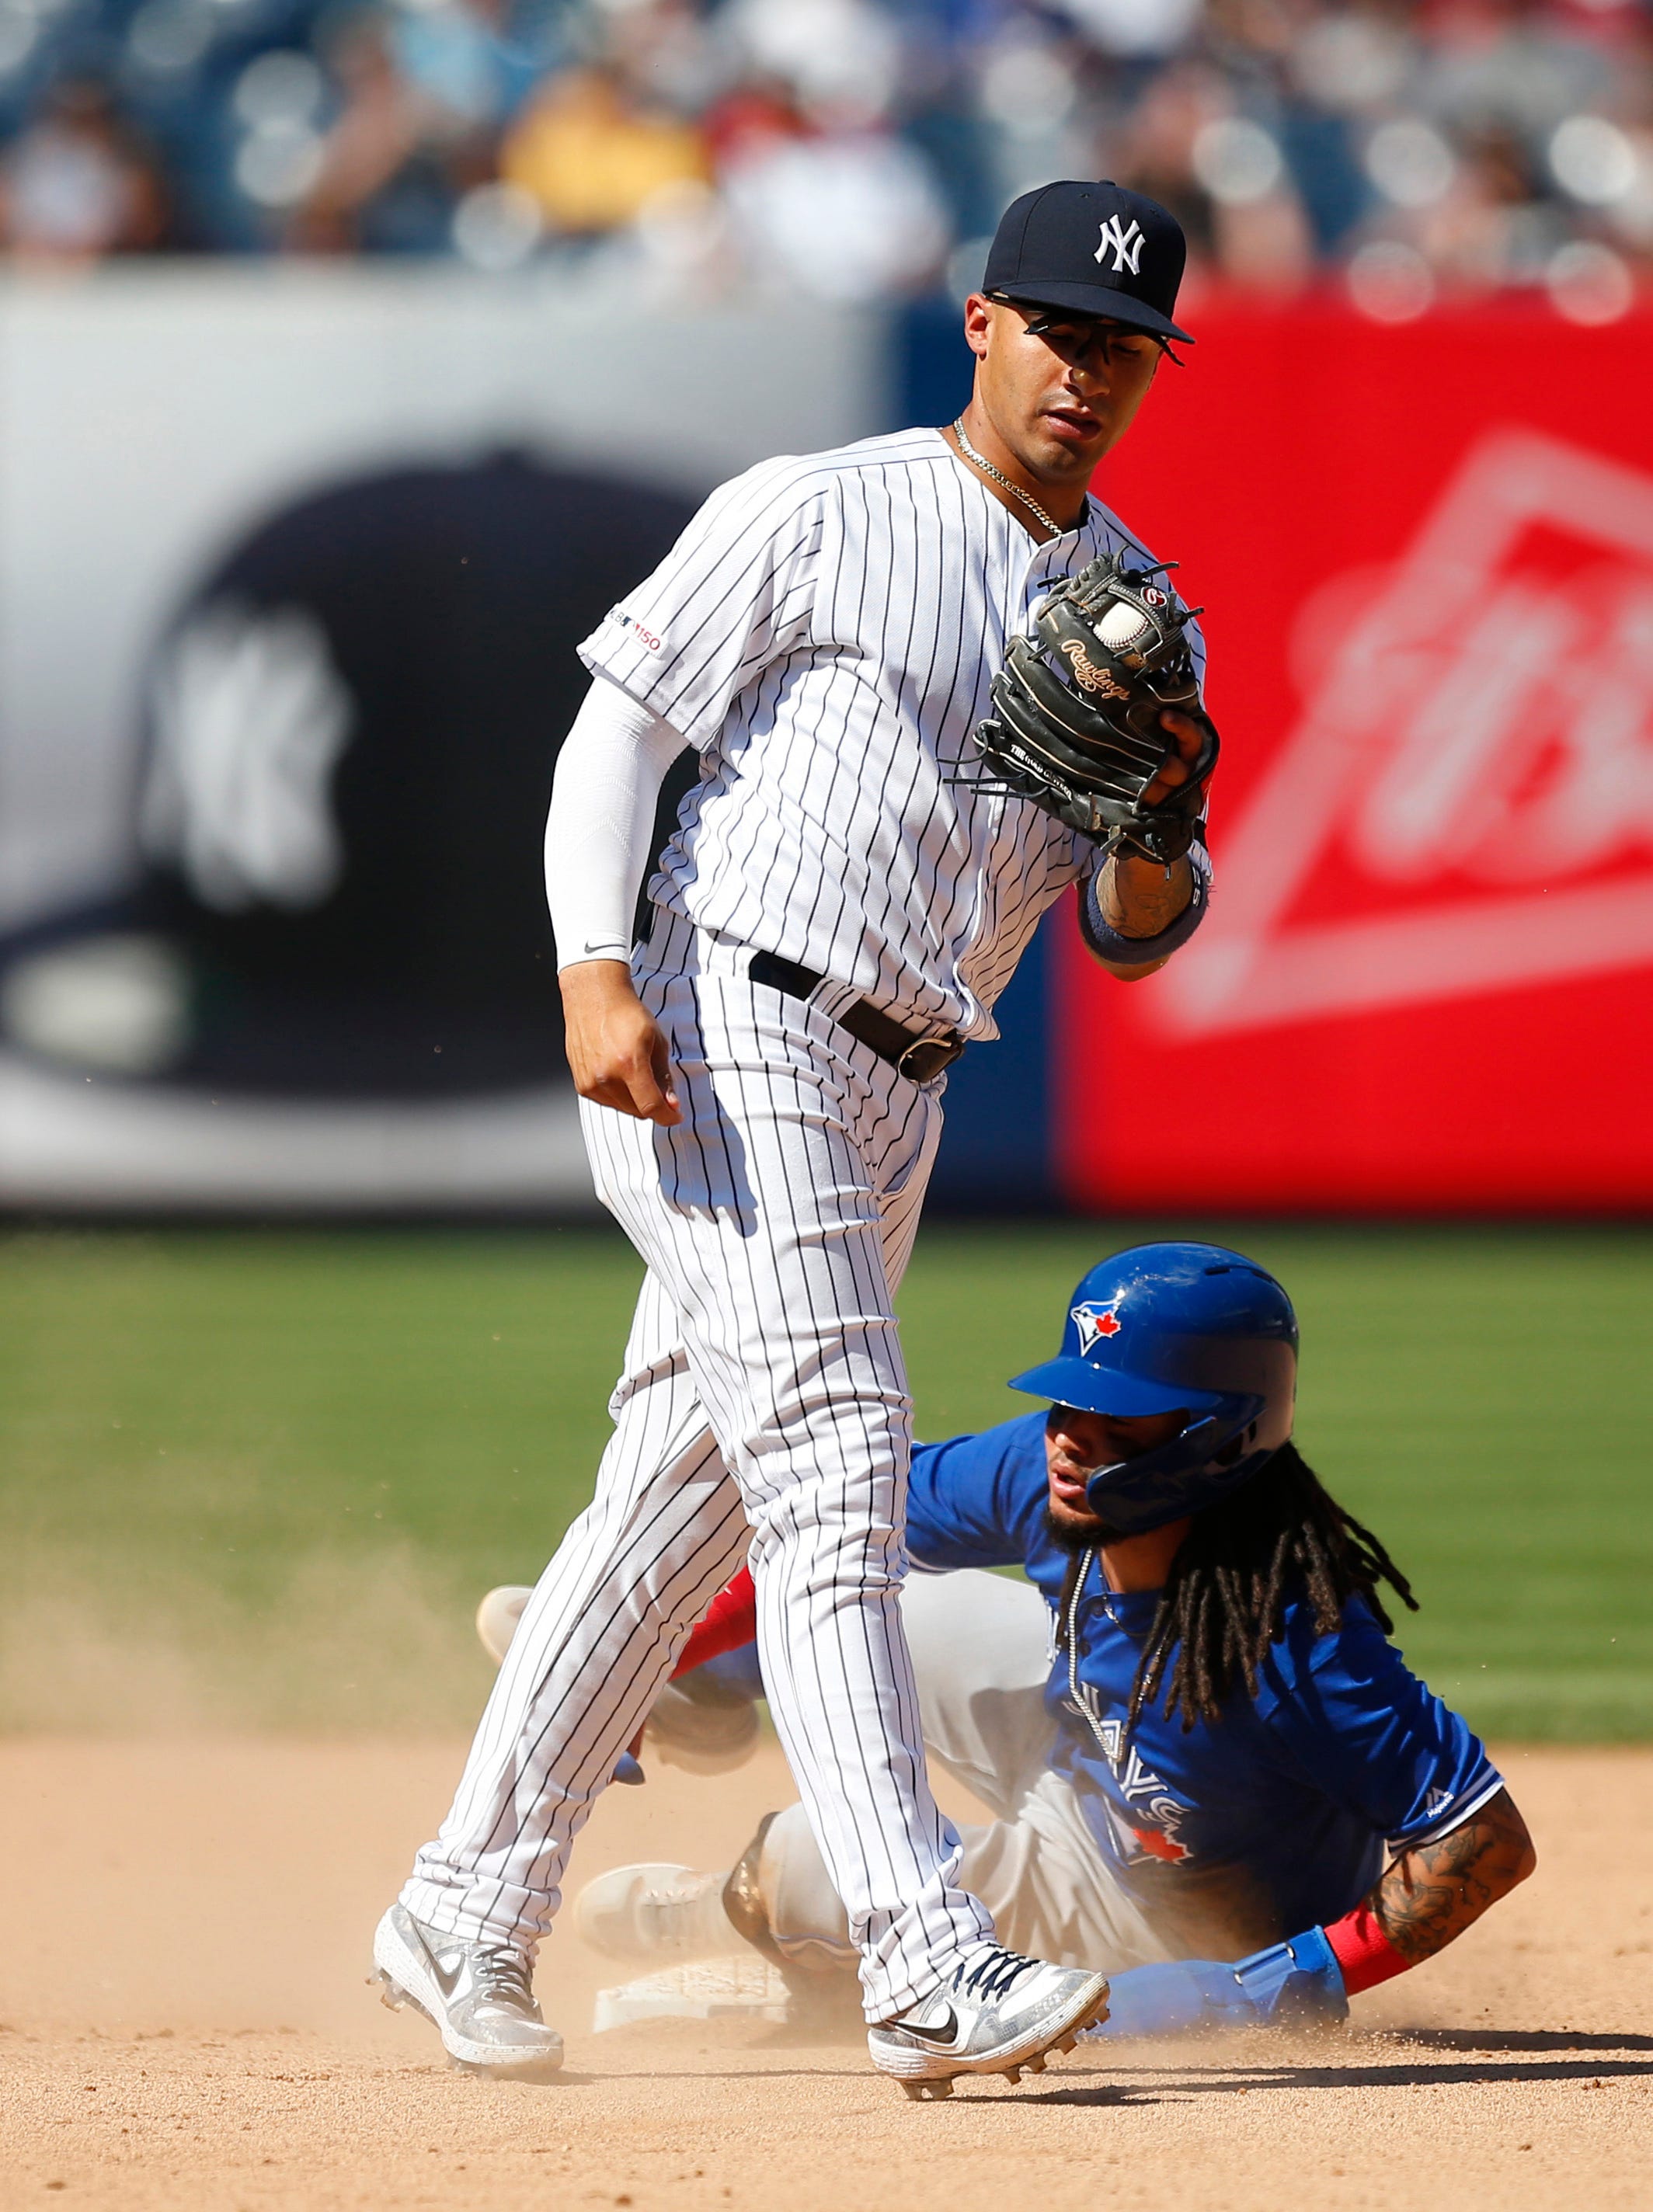
POLYGON ((1224 1245, 1115 1252, 1080 1281, 1062 1349, 1011 1389, 1087 1413, 1186 1413, 1157 1451, 1100 1467, 1098 1520, 1142 1535, 1215 1504, 1292 1433, 1297 1314, 1266 1267, 1224 1245))

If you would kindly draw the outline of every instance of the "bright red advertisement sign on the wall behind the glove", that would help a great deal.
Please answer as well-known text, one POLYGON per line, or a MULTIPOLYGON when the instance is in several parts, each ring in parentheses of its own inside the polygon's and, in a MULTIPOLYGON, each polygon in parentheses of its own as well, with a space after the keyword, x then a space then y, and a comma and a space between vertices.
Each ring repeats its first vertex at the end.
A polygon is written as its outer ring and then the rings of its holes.
POLYGON ((1217 894, 1058 956, 1089 1206, 1653 1201, 1653 314, 1210 314, 1100 480, 1206 602, 1217 894))

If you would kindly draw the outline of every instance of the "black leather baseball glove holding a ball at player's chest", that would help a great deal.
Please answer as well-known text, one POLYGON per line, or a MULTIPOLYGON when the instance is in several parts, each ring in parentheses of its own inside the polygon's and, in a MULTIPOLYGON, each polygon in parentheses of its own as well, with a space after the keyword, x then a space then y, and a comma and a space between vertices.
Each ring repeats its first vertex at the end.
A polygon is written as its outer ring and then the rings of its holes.
POLYGON ((1033 608, 1033 635, 1013 637, 994 677, 994 712, 976 745, 994 787, 1031 799, 1109 852, 1151 860, 1188 852, 1217 765, 1217 730, 1199 703, 1184 630, 1199 613, 1111 553, 1067 577, 1033 608), (1186 783, 1144 805, 1177 759, 1160 710, 1199 723, 1204 743, 1186 783))

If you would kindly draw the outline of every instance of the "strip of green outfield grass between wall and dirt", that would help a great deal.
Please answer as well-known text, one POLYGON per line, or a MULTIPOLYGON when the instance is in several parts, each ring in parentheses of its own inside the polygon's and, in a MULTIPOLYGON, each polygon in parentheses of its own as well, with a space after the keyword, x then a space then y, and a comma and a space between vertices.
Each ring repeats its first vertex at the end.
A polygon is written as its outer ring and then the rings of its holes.
MULTIPOLYGON (((1308 1458, 1416 1582, 1414 1666, 1503 1736, 1651 1739, 1653 1239, 1241 1241, 1303 1318, 1308 1458)), ((921 1436, 1025 1405, 1106 1243, 925 1232, 921 1436)), ((637 1272, 600 1230, 2 1239, 0 1721, 462 1721, 467 1606, 584 1502, 637 1272)))

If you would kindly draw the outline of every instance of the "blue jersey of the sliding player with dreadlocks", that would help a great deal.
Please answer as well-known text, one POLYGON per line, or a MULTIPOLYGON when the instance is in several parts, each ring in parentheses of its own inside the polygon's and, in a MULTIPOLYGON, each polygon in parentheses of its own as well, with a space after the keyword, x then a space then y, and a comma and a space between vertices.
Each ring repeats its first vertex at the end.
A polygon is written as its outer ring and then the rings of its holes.
POLYGON ((1022 1566, 1051 1606, 1053 1765, 1104 1858, 1182 1949, 1261 1947, 1339 1920, 1394 1849, 1503 1787, 1480 1741, 1416 1679, 1361 1599, 1319 1635, 1290 1604, 1252 1699, 1221 1721, 1137 1719, 1131 1686, 1157 1593, 1115 1595, 1044 1524, 1044 1413, 914 1449, 907 1544, 921 1566, 1022 1566), (1058 1608, 1073 1624, 1058 1648, 1058 1608))

